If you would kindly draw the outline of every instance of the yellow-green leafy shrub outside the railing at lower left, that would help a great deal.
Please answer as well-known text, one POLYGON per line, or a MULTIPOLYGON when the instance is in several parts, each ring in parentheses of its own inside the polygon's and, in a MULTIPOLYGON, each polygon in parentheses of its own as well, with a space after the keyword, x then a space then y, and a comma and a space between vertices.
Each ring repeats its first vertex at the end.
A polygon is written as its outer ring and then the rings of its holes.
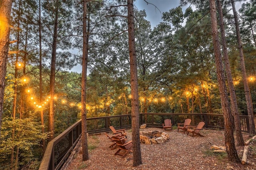
POLYGON ((11 154, 19 154, 18 160, 14 158, 19 167, 38 164, 41 141, 48 135, 42 133, 42 126, 36 122, 34 114, 30 113, 30 117, 24 119, 3 119, 1 132, 1 167, 10 167, 11 154))

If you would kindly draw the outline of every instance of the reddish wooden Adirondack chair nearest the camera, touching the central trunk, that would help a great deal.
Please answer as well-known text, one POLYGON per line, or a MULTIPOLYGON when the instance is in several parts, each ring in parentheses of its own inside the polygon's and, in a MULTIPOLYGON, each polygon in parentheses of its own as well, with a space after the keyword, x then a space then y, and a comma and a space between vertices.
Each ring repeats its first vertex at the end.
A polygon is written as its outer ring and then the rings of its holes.
POLYGON ((124 137, 115 137, 113 136, 112 139, 116 142, 116 145, 118 146, 118 150, 116 151, 116 154, 119 154, 122 156, 122 158, 125 158, 125 156, 129 153, 132 152, 132 141, 129 142, 123 142, 124 137), (120 152, 123 151, 123 152, 120 152))

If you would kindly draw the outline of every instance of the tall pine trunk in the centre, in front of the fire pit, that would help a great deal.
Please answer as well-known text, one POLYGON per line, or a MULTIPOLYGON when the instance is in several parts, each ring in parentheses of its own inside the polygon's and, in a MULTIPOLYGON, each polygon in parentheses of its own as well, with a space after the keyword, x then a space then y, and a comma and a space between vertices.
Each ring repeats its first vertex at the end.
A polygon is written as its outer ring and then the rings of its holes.
POLYGON ((139 122, 139 95, 138 95, 138 78, 137 78, 137 61, 135 52, 135 35, 134 35, 134 12, 133 0, 127 0, 128 6, 128 42, 130 56, 131 72, 131 91, 132 91, 132 145, 133 145, 133 166, 142 164, 140 150, 140 122, 139 122))

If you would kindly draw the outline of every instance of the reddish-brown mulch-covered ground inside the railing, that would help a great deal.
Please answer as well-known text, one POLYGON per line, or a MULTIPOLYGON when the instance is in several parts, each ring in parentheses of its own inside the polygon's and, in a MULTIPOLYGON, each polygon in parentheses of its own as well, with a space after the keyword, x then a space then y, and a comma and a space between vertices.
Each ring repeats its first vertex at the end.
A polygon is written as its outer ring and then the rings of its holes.
MULTIPOLYGON (((162 128, 140 129, 141 131, 163 131, 162 128)), ((132 153, 126 158, 114 155, 116 150, 110 150, 112 142, 104 135, 88 137, 89 160, 82 162, 82 149, 73 157, 66 170, 256 170, 256 140, 249 145, 247 164, 228 161, 227 154, 215 153, 212 145, 225 146, 224 131, 204 129, 200 133, 204 137, 192 137, 180 133, 177 129, 164 131, 170 138, 166 143, 141 144, 142 165, 133 167, 132 153)), ((131 140, 131 130, 126 130, 128 141, 131 140)), ((110 134, 111 135, 111 134, 110 134)), ((244 141, 251 139, 248 133, 243 133, 244 141)), ((236 136, 234 135, 235 143, 236 136)), ((238 156, 242 159, 244 146, 236 147, 238 156)))

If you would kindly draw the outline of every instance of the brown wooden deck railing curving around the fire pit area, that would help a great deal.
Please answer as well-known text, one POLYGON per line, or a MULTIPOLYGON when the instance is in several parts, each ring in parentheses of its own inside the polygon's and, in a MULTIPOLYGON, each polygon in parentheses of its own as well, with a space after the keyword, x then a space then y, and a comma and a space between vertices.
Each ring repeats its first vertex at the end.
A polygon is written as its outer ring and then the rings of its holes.
MULTIPOLYGON (((197 125, 200 121, 204 121, 205 128, 224 129, 223 115, 208 113, 140 113, 140 125, 146 123, 147 127, 162 127, 164 119, 171 119, 173 125, 177 125, 177 123, 182 123, 187 118, 192 120, 192 125, 197 125)), ((89 134, 110 131, 110 125, 116 129, 129 129, 132 127, 130 114, 94 117, 88 118, 86 121, 89 134)), ((240 115, 240 123, 242 131, 248 132, 248 116, 240 115)), ((58 170, 62 167, 81 137, 81 125, 81 120, 77 121, 48 143, 39 170, 58 170)))

